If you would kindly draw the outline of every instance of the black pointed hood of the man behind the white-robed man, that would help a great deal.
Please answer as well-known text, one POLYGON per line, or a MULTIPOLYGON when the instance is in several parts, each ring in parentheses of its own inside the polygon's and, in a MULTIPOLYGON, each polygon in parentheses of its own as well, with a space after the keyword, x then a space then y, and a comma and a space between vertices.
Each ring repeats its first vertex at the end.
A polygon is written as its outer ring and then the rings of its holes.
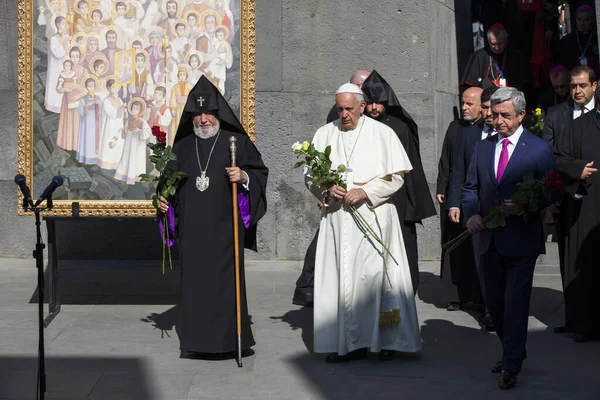
POLYGON ((401 119, 412 133, 414 139, 419 143, 419 130, 417 124, 412 119, 410 114, 406 112, 404 107, 400 105, 400 101, 394 93, 394 89, 383 79, 376 70, 371 72, 371 75, 362 85, 362 91, 365 95, 367 103, 382 103, 385 104, 385 110, 388 114, 401 119))

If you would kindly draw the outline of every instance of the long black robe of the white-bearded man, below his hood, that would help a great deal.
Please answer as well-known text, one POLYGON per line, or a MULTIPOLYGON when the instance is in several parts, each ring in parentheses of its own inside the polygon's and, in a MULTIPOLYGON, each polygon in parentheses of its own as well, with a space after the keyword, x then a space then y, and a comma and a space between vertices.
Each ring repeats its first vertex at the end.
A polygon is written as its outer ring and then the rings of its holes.
MULTIPOLYGON (((242 309, 242 348, 255 344, 250 329, 244 274, 244 244, 255 248, 256 222, 266 212, 268 170, 247 135, 221 130, 208 139, 191 134, 175 143, 177 170, 187 174, 175 198, 181 273, 180 349, 200 353, 224 353, 237 348, 232 188, 225 168, 231 166, 229 138, 237 138, 237 166, 249 182, 250 228, 239 216, 239 250, 242 309), (217 140, 210 164, 207 161, 217 140), (196 188, 200 167, 207 168, 210 185, 196 188)), ((244 192, 238 185, 238 192, 244 192)))

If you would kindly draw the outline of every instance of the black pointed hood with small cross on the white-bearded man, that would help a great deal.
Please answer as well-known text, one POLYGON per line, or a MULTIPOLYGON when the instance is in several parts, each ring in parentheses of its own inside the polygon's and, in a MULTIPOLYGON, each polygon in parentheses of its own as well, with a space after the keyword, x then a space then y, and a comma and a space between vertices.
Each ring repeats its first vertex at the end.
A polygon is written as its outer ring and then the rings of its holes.
POLYGON ((248 135, 219 89, 203 75, 188 95, 183 114, 179 120, 175 143, 187 135, 194 134, 194 116, 204 112, 215 113, 221 124, 221 129, 248 135))

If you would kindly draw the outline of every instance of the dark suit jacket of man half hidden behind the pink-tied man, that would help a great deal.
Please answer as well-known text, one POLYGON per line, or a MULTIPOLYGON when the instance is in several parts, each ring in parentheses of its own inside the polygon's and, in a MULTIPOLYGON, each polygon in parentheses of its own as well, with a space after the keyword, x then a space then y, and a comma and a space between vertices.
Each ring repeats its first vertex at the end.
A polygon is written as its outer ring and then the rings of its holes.
POLYGON ((471 164, 475 144, 481 140, 482 131, 482 122, 467 126, 462 131, 458 153, 452 160, 452 169, 450 170, 448 199, 446 199, 448 209, 461 206, 462 186, 467 180, 467 170, 471 164))

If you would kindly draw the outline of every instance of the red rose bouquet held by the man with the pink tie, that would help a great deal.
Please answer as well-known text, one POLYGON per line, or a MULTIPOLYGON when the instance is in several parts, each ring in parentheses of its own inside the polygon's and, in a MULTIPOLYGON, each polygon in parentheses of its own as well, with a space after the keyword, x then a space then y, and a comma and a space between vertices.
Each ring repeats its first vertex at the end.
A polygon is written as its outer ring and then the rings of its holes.
MULTIPOLYGON (((533 174, 529 173, 523 177, 523 182, 519 183, 517 191, 510 200, 521 206, 523 218, 527 220, 530 213, 539 211, 539 202, 543 196, 553 190, 562 190, 564 187, 562 175, 556 171, 550 171, 540 179, 535 179, 533 174)), ((498 203, 488 215, 482 218, 482 222, 486 229, 494 229, 505 226, 506 217, 507 214, 503 211, 502 204, 498 203)), ((465 230, 451 241, 444 243, 442 245, 444 256, 450 254, 471 236, 472 234, 465 230)))

